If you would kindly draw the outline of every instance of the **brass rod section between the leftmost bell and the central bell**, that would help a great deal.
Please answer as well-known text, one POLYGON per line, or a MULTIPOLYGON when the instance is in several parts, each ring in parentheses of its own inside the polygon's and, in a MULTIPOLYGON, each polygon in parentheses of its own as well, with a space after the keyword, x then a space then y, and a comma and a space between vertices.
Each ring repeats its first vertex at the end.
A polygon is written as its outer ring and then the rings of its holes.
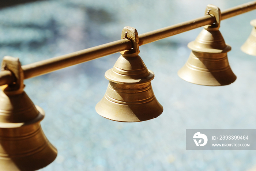
POLYGON ((24 72, 24 79, 44 75, 58 69, 80 64, 131 48, 132 43, 128 39, 121 39, 118 41, 91 47, 89 49, 80 50, 78 52, 34 62, 28 65, 23 65, 22 69, 24 72))

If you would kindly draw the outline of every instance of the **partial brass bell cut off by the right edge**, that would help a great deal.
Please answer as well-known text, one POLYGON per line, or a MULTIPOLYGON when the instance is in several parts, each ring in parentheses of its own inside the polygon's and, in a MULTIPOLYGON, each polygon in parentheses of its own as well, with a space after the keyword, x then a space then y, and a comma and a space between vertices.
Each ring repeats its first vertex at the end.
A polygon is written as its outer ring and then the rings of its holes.
POLYGON ((241 46, 242 52, 256 56, 256 19, 252 20, 250 24, 253 26, 249 38, 241 46))

